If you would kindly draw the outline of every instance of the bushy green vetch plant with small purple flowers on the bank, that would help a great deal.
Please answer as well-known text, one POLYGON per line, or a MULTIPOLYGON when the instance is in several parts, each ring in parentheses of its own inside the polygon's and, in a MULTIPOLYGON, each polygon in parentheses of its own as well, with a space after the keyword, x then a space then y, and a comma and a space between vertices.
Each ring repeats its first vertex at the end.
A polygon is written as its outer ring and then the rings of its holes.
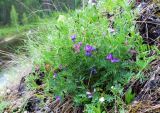
MULTIPOLYGON (((37 58, 42 67, 44 62, 53 65, 44 79, 46 94, 53 92, 52 95, 60 96, 62 101, 69 95, 76 106, 85 105, 85 111, 112 109, 115 103, 117 109, 125 105, 124 86, 139 72, 139 67, 146 67, 147 63, 142 59, 145 65, 141 66, 137 56, 137 62, 132 61, 129 53, 132 48, 139 56, 146 49, 141 46, 142 41, 132 23, 131 7, 124 4, 122 0, 116 3, 107 0, 101 7, 72 12, 63 24, 57 23, 47 29, 48 33, 38 36, 40 43, 32 47, 41 53, 37 58), (109 10, 113 20, 102 16, 101 8, 109 10), (53 38, 48 41, 46 35, 53 38), (58 71, 53 71, 57 68, 58 71)), ((36 55, 35 52, 32 55, 36 55)), ((130 94, 126 98, 127 103, 132 100, 130 94)))

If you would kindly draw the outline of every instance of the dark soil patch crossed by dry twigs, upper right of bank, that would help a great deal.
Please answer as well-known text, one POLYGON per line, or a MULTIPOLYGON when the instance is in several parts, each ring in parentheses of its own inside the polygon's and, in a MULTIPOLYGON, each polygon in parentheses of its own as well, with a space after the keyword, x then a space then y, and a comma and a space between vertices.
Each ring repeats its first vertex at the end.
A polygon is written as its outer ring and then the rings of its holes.
POLYGON ((160 6, 146 3, 140 10, 140 15, 137 25, 144 43, 160 47, 160 6))

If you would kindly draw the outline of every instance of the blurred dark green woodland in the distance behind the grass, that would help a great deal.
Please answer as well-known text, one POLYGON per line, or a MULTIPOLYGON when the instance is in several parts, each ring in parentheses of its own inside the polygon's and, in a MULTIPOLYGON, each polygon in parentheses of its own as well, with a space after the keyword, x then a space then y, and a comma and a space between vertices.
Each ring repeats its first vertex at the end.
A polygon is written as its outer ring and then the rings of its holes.
POLYGON ((23 23, 24 15, 30 21, 35 16, 43 17, 51 11, 67 11, 81 5, 81 0, 1 0, 0 1, 0 25, 11 24, 10 12, 15 7, 18 13, 18 23, 23 23))

